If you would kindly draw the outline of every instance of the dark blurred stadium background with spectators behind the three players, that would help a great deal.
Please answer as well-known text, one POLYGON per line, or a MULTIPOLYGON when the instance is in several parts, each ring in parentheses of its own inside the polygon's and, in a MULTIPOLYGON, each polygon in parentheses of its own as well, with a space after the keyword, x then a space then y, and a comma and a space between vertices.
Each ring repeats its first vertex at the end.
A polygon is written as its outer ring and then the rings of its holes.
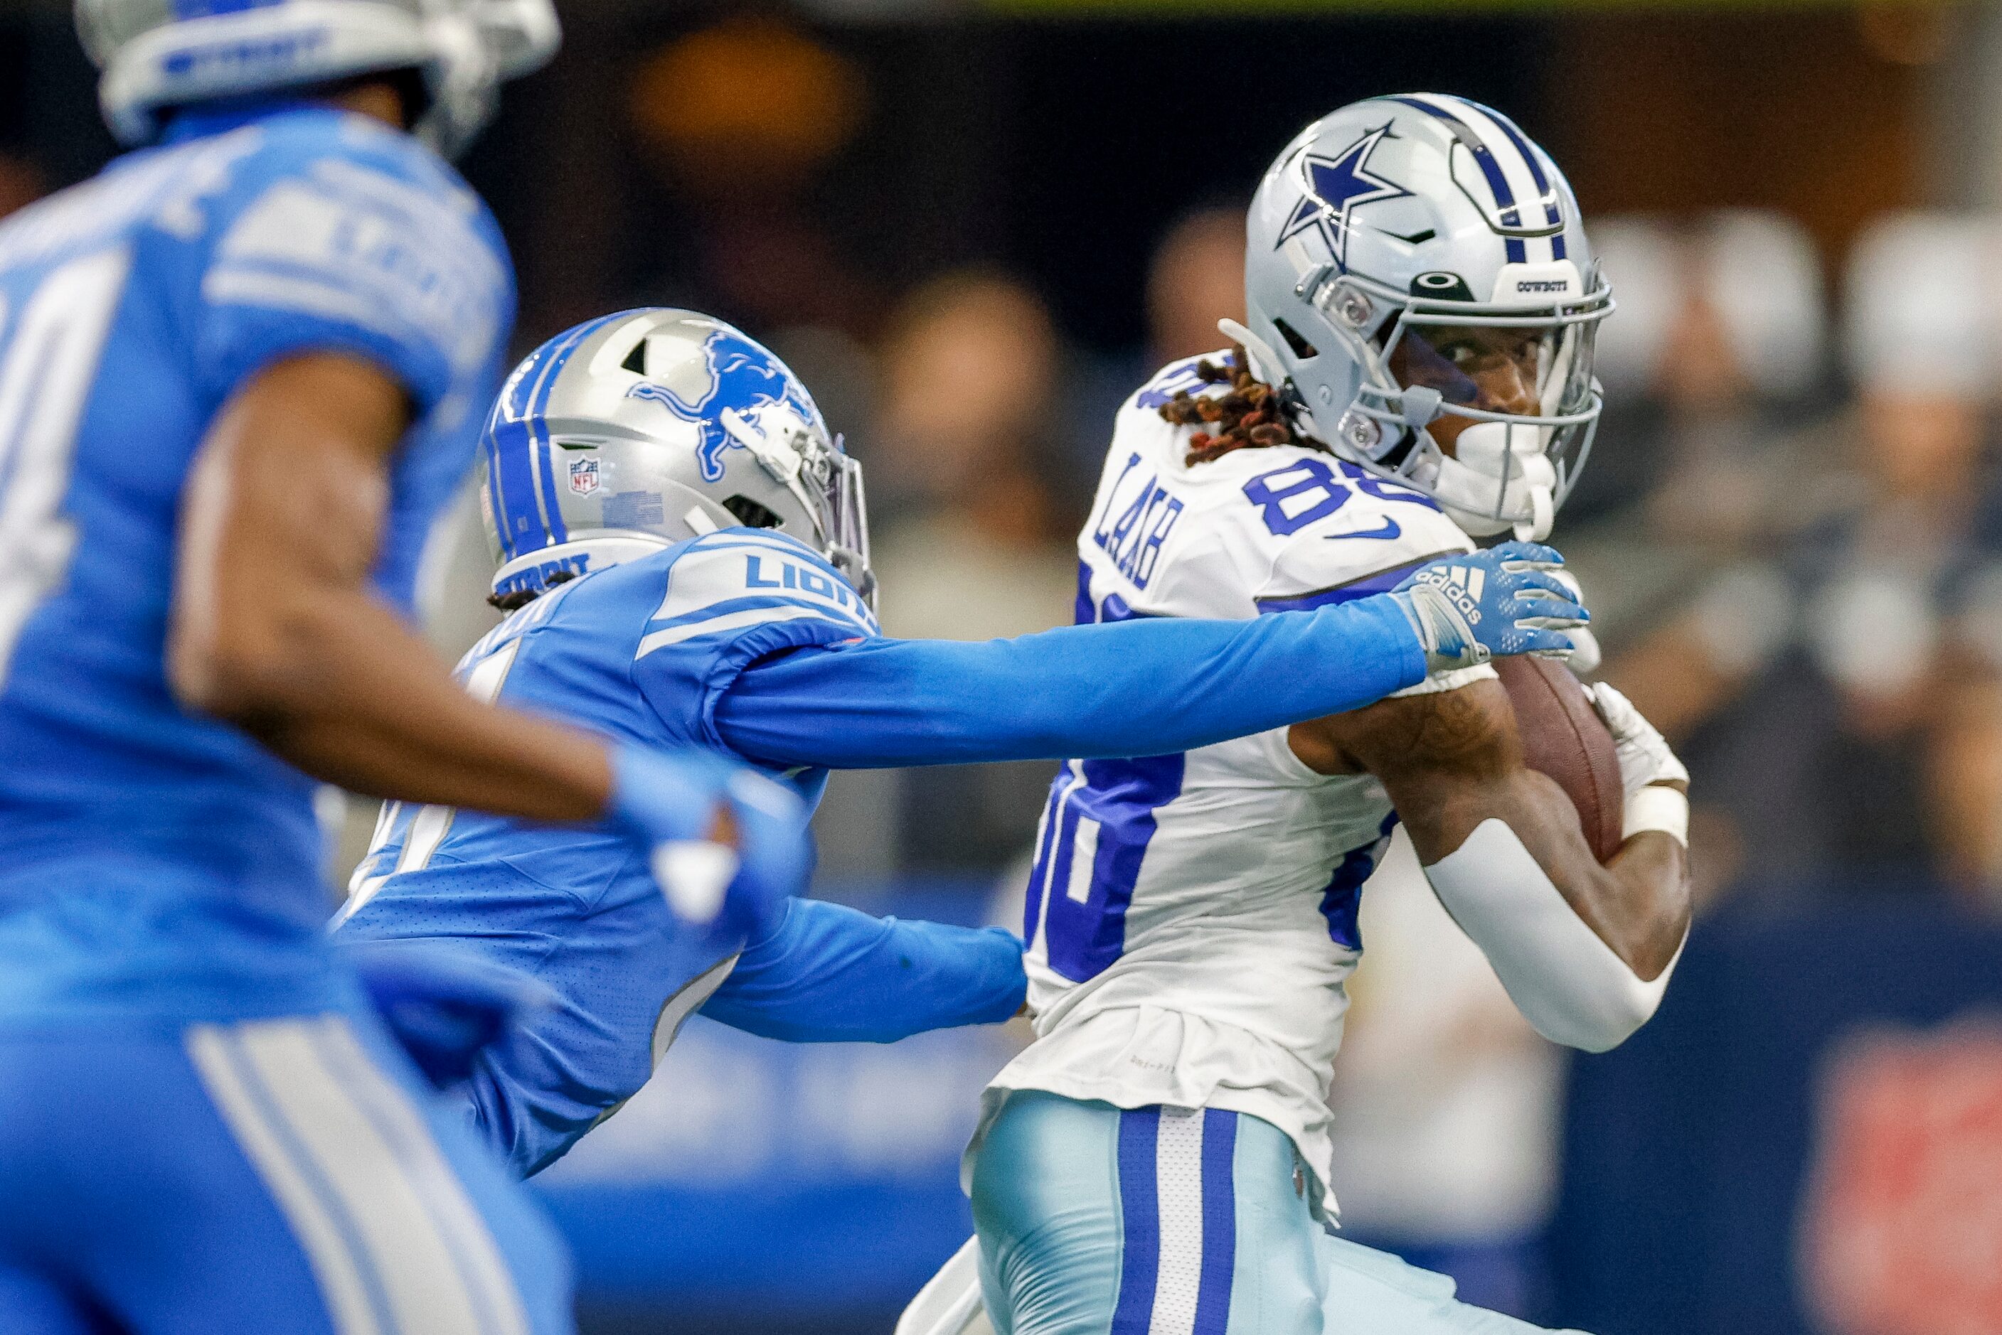
MULTIPOLYGON (((1335 1089, 1343 1225, 1600 1335, 2002 1333, 2002 10, 563 18, 462 164, 519 348, 639 304, 771 342, 869 466, 893 634, 1069 620, 1111 412, 1241 314, 1241 208, 1299 126, 1433 88, 1540 138, 1622 306, 1558 542, 1602 675, 1694 771, 1700 923, 1654 1025, 1574 1061, 1393 859, 1335 1089)), ((0 212, 108 154, 66 6, 14 0, 0 212)), ((430 562, 448 652, 486 624, 470 514, 430 562)), ((837 777, 823 893, 1009 921, 1049 771, 837 777)), ((543 1179, 587 1325, 887 1331, 967 1233, 957 1153, 1019 1041, 697 1021, 543 1179)))

